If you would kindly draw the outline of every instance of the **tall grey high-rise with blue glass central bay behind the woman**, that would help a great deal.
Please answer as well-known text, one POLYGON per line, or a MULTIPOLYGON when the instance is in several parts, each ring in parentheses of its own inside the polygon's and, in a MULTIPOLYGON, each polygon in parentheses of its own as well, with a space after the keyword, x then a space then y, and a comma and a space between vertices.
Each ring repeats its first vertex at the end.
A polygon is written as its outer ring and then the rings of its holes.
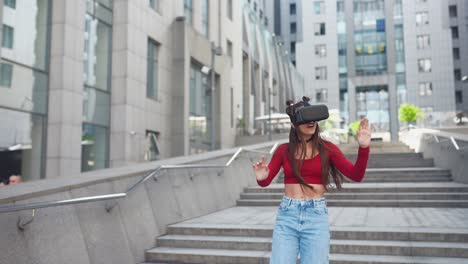
POLYGON ((466 1, 315 0, 301 5, 297 68, 314 102, 339 109, 343 124, 367 116, 375 132, 392 140, 398 137, 402 103, 421 107, 427 124, 452 122, 463 101, 458 91, 463 67, 457 65, 467 63, 461 62, 461 31, 454 25, 466 30, 466 15, 461 15, 466 1))

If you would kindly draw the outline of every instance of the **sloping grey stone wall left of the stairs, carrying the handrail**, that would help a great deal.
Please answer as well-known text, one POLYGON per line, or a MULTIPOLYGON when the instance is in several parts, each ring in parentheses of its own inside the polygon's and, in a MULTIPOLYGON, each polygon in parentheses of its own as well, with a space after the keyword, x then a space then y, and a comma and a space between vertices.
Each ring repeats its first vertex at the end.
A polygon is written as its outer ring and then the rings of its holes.
MULTIPOLYGON (((248 149, 269 151, 273 143, 248 149)), ((107 169, 0 189, 0 205, 27 204, 125 192, 161 164, 225 164, 237 149, 107 169)), ((144 261, 145 249, 168 224, 235 206, 242 190, 256 184, 252 159, 241 152, 224 169, 166 170, 149 179, 107 212, 106 201, 38 209, 24 231, 17 228, 31 211, 0 214, 0 264, 129 264, 144 261)))

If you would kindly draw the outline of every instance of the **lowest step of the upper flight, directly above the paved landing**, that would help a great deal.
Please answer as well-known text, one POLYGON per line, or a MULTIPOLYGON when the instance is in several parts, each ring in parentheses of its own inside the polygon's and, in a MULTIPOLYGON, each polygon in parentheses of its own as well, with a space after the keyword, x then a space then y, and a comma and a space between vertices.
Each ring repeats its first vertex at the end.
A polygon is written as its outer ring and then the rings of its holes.
MULTIPOLYGON (((238 206, 278 206, 280 199, 237 200, 238 206)), ((330 207, 447 207, 468 208, 468 200, 327 200, 330 207)))

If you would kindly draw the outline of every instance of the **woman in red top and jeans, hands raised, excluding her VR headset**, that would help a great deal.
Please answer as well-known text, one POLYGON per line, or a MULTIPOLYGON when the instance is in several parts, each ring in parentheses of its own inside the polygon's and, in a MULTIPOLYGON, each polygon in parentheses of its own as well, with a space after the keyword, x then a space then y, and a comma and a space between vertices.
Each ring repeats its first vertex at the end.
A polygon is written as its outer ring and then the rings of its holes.
POLYGON ((343 175, 360 182, 364 178, 371 132, 366 118, 357 134, 359 151, 353 165, 333 143, 320 137, 317 122, 294 124, 295 114, 309 106, 309 98, 286 102, 291 118, 289 143, 280 145, 267 165, 265 157, 253 165, 257 182, 268 186, 281 167, 284 197, 273 230, 270 264, 293 264, 299 254, 301 264, 329 263, 330 227, 324 198, 332 183, 341 188, 343 175))

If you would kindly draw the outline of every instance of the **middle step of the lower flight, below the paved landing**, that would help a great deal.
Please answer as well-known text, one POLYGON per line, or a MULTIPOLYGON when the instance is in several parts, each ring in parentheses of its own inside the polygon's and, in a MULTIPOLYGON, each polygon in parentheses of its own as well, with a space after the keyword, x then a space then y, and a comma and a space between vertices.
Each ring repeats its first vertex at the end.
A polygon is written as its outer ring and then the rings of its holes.
MULTIPOLYGON (((165 235, 157 245, 177 248, 210 248, 235 250, 271 250, 271 238, 240 236, 165 235)), ((380 254, 398 256, 467 257, 467 243, 331 240, 331 253, 380 254)))

